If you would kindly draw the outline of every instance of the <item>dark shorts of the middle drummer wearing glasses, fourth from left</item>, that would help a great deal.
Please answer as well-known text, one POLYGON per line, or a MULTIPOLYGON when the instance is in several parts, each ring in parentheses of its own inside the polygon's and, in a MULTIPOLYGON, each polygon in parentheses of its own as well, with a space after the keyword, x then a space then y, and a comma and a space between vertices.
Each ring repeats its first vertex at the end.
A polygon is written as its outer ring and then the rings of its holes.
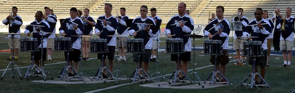
MULTIPOLYGON (((144 49, 144 53, 140 54, 140 62, 148 63, 150 62, 151 49, 144 49)), ((133 54, 133 62, 138 61, 138 54, 133 54)))

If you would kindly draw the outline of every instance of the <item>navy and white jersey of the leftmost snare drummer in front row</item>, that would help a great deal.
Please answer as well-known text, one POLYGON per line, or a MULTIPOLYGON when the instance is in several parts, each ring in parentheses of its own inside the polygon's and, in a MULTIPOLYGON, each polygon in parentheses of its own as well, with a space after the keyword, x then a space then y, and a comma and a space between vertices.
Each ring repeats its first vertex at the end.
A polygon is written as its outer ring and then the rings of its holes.
MULTIPOLYGON (((36 28, 41 28, 40 32, 50 32, 50 26, 49 24, 42 20, 39 23, 37 22, 37 20, 34 20, 33 22, 30 23, 30 25, 28 25, 25 29, 25 34, 31 33, 31 32, 37 32, 35 29, 36 28), (45 27, 40 27, 40 26, 31 26, 31 25, 41 25, 41 26, 45 26, 45 27)), ((47 33, 33 33, 33 38, 37 38, 37 44, 38 44, 38 48, 41 48, 41 37, 43 35, 43 48, 47 48, 47 37, 45 37, 47 35, 47 33)))

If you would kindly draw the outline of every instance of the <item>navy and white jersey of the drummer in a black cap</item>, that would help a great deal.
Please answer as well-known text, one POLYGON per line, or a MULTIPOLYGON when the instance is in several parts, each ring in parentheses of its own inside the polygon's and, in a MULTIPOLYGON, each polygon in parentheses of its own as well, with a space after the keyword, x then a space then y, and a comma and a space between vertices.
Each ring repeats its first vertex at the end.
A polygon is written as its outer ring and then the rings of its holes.
POLYGON ((71 37, 71 42, 72 42, 72 48, 74 49, 80 49, 81 48, 81 37, 72 37, 76 35, 81 35, 83 34, 84 26, 83 22, 79 17, 76 17, 75 19, 72 19, 71 17, 66 18, 62 24, 61 27, 59 28, 59 34, 62 35, 62 33, 65 32, 65 37, 71 37), (78 29, 74 30, 74 26, 76 26, 74 23, 78 24, 78 29))

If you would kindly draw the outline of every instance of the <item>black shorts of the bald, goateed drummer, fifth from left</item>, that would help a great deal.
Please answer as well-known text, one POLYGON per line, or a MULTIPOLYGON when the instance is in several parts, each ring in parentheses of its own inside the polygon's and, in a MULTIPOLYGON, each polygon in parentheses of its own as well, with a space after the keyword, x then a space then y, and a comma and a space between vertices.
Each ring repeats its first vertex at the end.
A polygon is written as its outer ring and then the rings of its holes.
MULTIPOLYGON (((171 54, 171 61, 177 61, 177 54, 171 54)), ((179 61, 191 61, 191 52, 185 51, 180 54, 179 61)))

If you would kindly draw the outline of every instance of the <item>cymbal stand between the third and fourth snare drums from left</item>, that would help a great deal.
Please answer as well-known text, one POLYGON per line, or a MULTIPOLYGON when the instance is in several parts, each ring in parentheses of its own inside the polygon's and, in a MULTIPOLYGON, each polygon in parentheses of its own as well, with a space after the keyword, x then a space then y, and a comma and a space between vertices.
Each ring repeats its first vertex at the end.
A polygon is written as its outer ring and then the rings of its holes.
MULTIPOLYGON (((124 78, 126 78, 128 80, 128 82, 130 82, 130 80, 125 76, 125 74, 118 69, 118 67, 119 67, 119 37, 116 37, 116 39, 117 39, 117 50, 118 50, 118 52, 117 52, 117 59, 116 59, 116 61, 117 61, 117 67, 116 67, 116 71, 113 72, 113 73, 116 72, 116 79, 115 79, 116 80, 116 84, 118 84, 118 80, 119 80, 118 79, 118 76, 119 76, 119 73, 122 73, 123 74, 123 76, 121 76, 120 79, 122 79, 124 77, 124 78)), ((124 52, 123 47, 122 47, 122 52, 124 52)), ((110 76, 108 76, 108 78, 110 78, 110 76)), ((115 78, 115 77, 113 77, 113 78, 115 78)), ((106 82, 106 80, 107 79, 105 79, 104 82, 106 82)))

